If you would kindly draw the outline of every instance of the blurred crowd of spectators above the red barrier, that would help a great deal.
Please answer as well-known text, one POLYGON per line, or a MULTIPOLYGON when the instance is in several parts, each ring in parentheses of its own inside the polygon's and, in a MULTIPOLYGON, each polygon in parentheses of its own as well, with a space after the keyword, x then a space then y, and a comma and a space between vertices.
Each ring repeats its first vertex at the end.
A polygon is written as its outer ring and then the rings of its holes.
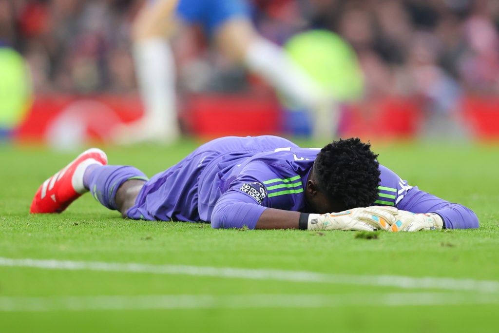
MULTIPOLYGON (((0 0, 0 43, 27 59, 35 91, 132 92, 130 26, 143 0, 0 0)), ((499 92, 498 0, 253 0, 262 35, 282 44, 309 28, 357 52, 366 95, 420 95, 452 109, 457 96, 499 92)), ((196 28, 174 41, 184 90, 251 88, 196 28)))

